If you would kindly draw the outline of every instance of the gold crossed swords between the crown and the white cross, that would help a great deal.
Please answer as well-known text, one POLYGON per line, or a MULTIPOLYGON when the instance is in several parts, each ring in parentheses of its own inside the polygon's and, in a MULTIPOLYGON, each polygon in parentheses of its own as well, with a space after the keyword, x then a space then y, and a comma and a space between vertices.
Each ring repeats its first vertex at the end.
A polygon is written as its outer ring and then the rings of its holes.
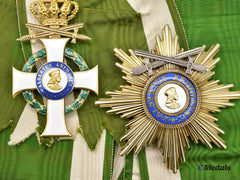
POLYGON ((51 35, 61 35, 65 37, 72 38, 72 43, 76 43, 76 39, 81 40, 91 40, 90 37, 84 35, 84 34, 78 34, 79 28, 83 27, 83 23, 73 24, 66 27, 60 27, 60 28, 51 28, 51 27, 44 27, 37 24, 27 23, 26 26, 30 28, 30 34, 24 35, 20 38, 18 38, 18 41, 28 41, 32 40, 33 43, 35 43, 35 39, 42 38, 44 36, 51 36, 51 35), (39 33, 34 33, 33 29, 40 30, 39 33), (74 30, 74 32, 69 32, 70 30, 74 30))

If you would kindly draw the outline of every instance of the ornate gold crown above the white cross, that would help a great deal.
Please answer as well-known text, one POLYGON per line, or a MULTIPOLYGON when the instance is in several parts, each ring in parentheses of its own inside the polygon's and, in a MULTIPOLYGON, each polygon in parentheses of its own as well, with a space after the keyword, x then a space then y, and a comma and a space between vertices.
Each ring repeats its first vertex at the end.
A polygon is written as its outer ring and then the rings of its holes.
POLYGON ((30 10, 43 26, 67 26, 68 21, 76 16, 79 6, 70 0, 40 0, 31 3, 30 10))

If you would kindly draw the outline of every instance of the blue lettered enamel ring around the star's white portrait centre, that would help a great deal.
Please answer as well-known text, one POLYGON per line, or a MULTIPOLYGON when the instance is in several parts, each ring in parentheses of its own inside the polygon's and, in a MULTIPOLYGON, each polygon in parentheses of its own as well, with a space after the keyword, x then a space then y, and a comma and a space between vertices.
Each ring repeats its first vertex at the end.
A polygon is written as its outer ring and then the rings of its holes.
MULTIPOLYGON (((180 124, 187 119, 189 119, 197 108, 197 91, 193 82, 186 76, 170 72, 159 75, 156 77, 148 86, 146 91, 146 107, 150 115, 157 121, 166 125, 180 124), (157 98, 159 89, 161 89, 165 84, 176 83, 179 84, 186 90, 188 101, 185 108, 180 113, 164 113, 158 105, 157 98)), ((181 97, 180 97, 181 98, 181 97)), ((164 102, 165 103, 165 102, 164 102)))

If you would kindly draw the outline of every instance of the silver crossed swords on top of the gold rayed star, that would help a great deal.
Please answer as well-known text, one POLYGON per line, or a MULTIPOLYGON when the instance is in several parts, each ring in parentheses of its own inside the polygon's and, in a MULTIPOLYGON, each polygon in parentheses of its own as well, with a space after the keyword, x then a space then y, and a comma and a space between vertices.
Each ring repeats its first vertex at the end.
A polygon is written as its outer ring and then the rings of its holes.
POLYGON ((134 51, 135 55, 144 57, 143 61, 145 65, 136 67, 135 69, 133 69, 131 74, 140 75, 148 71, 148 76, 152 76, 154 75, 154 72, 153 72, 154 68, 160 67, 167 63, 171 63, 171 64, 175 64, 175 65, 187 68, 186 70, 187 74, 191 74, 192 70, 205 72, 205 71, 208 71, 208 69, 205 66, 201 64, 193 63, 195 59, 193 56, 201 53, 202 51, 203 51, 203 48, 198 47, 195 49, 191 49, 191 50, 179 53, 175 56, 169 57, 169 56, 162 56, 159 54, 154 54, 154 53, 150 53, 142 50, 135 50, 134 51), (149 58, 155 59, 158 61, 150 63, 149 58), (182 58, 188 58, 188 61, 181 60, 182 58))

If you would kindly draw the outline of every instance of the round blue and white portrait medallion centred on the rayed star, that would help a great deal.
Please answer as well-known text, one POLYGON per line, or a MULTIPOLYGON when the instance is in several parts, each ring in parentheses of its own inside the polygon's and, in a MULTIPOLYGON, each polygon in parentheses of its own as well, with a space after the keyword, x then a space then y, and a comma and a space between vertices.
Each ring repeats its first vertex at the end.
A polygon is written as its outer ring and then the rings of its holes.
POLYGON ((169 128, 188 123, 200 102, 194 81, 178 70, 162 71, 151 77, 142 99, 149 119, 169 128))

